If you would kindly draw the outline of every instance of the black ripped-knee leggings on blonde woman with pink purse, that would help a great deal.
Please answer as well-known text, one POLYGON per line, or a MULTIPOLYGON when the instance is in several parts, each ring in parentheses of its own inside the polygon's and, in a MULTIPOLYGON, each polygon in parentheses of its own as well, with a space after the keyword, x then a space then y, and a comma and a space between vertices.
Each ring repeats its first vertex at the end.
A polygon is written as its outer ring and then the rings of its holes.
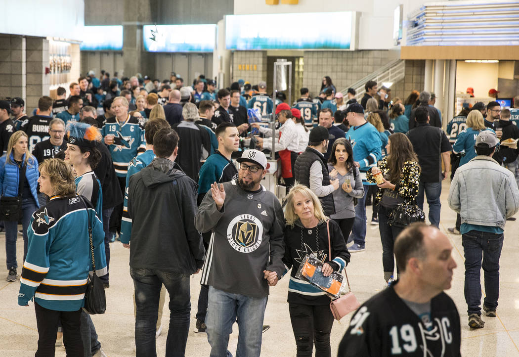
POLYGON ((289 311, 297 357, 311 357, 314 344, 316 357, 331 357, 330 332, 332 331, 333 315, 330 305, 313 306, 289 303, 289 311))

